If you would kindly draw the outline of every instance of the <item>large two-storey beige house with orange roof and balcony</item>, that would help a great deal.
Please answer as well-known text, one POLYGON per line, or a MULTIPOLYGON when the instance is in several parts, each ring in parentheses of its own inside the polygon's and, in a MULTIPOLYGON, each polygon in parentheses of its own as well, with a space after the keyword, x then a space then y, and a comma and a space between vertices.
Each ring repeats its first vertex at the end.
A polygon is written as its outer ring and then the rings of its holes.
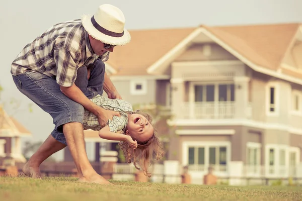
POLYGON ((209 166, 218 176, 297 176, 302 24, 130 34, 106 71, 131 104, 171 110, 169 129, 160 131, 170 136, 169 160, 188 166, 193 179, 209 166))

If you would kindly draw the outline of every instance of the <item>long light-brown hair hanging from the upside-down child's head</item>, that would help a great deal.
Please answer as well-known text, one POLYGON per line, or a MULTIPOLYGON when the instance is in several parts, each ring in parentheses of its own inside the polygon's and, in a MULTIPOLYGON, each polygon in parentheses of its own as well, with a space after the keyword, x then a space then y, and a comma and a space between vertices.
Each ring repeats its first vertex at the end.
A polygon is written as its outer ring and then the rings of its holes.
MULTIPOLYGON (((152 117, 147 113, 135 111, 131 112, 130 114, 140 114, 144 116, 150 124, 152 124, 152 117)), ((122 132, 125 132, 125 130, 126 129, 124 129, 122 132)), ((148 177, 151 176, 151 174, 148 172, 148 166, 152 164, 153 160, 160 160, 164 156, 164 150, 155 128, 153 136, 147 141, 137 141, 136 149, 131 148, 126 141, 119 142, 119 146, 124 152, 127 163, 131 163, 132 160, 135 168, 139 170, 140 168, 137 167, 138 163, 138 165, 142 168, 144 175, 148 177)))

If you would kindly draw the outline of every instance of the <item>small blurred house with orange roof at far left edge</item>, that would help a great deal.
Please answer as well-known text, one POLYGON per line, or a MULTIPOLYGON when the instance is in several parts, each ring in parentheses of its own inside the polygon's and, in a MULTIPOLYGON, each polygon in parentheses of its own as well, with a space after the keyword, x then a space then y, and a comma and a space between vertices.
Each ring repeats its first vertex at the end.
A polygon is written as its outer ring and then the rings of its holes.
POLYGON ((0 158, 12 157, 15 162, 26 162, 21 150, 21 138, 31 136, 22 124, 9 117, 0 106, 0 158))

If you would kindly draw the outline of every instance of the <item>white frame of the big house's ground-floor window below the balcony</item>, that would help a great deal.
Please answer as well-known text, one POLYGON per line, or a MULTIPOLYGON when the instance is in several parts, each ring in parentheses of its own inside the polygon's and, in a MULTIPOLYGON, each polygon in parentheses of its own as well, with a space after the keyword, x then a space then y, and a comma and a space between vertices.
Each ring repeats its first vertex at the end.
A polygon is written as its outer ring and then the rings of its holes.
MULTIPOLYGON (((226 165, 231 162, 231 142, 228 141, 185 141, 182 144, 182 164, 184 166, 189 165, 189 147, 204 147, 204 166, 209 166, 209 147, 226 147, 226 165)), ((207 170, 205 170, 207 171, 207 170)))

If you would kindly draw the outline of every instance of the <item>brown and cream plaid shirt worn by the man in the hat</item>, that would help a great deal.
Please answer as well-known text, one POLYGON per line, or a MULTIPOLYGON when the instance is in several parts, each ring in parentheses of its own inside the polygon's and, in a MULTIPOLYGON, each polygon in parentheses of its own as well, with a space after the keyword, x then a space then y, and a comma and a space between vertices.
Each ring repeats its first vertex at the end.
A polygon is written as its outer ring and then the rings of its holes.
POLYGON ((107 61, 109 51, 96 55, 82 21, 73 20, 52 26, 26 45, 13 61, 11 73, 31 70, 55 78, 61 86, 71 86, 78 68, 88 67, 98 58, 107 61))

